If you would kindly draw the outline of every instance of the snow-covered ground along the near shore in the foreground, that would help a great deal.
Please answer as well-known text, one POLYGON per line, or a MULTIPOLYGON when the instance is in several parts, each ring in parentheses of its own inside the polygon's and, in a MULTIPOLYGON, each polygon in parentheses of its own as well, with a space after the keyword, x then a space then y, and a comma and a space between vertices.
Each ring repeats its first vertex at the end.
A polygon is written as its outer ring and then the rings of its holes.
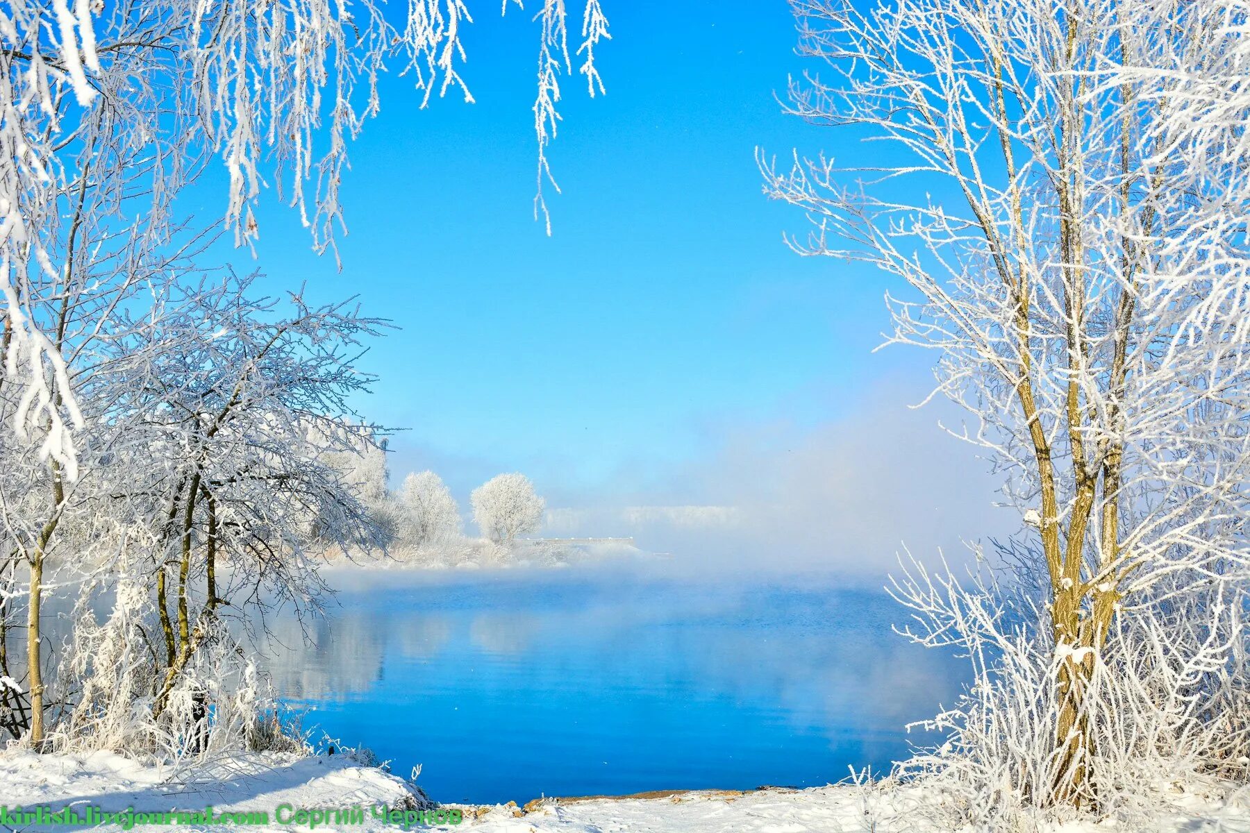
MULTIPOLYGON (((414 813, 409 829, 424 828, 415 816, 422 803, 402 781, 379 769, 336 757, 279 754, 232 756, 176 771, 144 767, 111 753, 36 756, 24 751, 0 753, 0 806, 52 811, 71 807, 80 816, 91 806, 104 812, 128 808, 145 812, 198 811, 269 813, 269 823, 196 823, 195 831, 310 829, 308 821, 292 823, 299 809, 360 806, 359 823, 321 823, 316 829, 395 831, 402 822, 379 818, 395 808, 414 813), (284 809, 279 809, 284 808, 284 809), (378 808, 378 809, 375 809, 378 808), (280 823, 281 822, 281 823, 280 823)), ((475 833, 851 833, 902 831, 938 833, 924 818, 924 791, 895 788, 861 791, 824 787, 791 791, 654 793, 642 797, 546 799, 525 808, 455 807, 459 824, 435 829, 472 829, 475 833)), ((1105 833, 1150 829, 1158 833, 1250 833, 1250 796, 1222 789, 1176 792, 1171 809, 1148 827, 1114 821, 1070 822, 1038 828, 1048 833, 1105 833)), ((452 806, 454 807, 454 806, 452 806)), ((450 808, 442 808, 445 812, 450 808)), ((399 817, 396 817, 399 818, 399 817)), ((25 824, 0 817, 0 831, 81 829, 86 824, 25 824)), ((131 829, 169 829, 144 824, 131 829)), ((100 829, 122 829, 118 823, 100 829)))

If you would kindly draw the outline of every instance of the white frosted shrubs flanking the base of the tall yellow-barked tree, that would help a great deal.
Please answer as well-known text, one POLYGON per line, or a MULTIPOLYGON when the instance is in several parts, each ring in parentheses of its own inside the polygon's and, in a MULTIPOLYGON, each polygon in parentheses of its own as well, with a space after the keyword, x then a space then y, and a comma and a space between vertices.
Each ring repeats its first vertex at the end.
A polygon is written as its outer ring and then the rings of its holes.
MULTIPOLYGON (((1061 663, 1089 666, 1079 721, 1091 737, 1090 806, 1135 824, 1161 813, 1174 783, 1250 776, 1250 666, 1242 577, 1178 573, 1138 597, 1115 619, 1099 652, 1056 652, 1036 577, 989 571, 962 581, 945 566, 908 563, 894 593, 914 613, 908 636, 954 648, 971 664, 959 702, 925 722, 945 737, 904 763, 934 796, 942 824, 1004 829, 1039 816, 1061 779, 1054 743, 1061 663)), ((1062 813, 1059 814, 1064 818, 1062 813)))

